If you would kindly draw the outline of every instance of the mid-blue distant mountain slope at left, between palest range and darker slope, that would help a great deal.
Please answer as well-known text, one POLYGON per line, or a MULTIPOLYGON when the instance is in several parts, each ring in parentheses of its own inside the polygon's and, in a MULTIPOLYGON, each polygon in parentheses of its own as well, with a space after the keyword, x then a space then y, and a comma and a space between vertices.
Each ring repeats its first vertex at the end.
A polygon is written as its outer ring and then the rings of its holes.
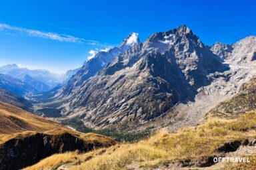
POLYGON ((0 87, 5 88, 17 96, 25 96, 37 92, 35 88, 29 86, 25 82, 6 74, 0 74, 0 87))

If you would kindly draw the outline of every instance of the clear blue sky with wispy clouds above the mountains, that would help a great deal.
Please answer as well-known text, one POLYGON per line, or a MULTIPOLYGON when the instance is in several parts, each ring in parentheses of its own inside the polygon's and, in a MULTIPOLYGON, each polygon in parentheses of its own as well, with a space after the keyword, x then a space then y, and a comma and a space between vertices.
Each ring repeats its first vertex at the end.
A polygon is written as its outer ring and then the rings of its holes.
POLYGON ((256 35, 256 1, 0 1, 0 65, 65 72, 90 50, 117 46, 129 33, 141 41, 187 25, 201 41, 233 43, 256 35))

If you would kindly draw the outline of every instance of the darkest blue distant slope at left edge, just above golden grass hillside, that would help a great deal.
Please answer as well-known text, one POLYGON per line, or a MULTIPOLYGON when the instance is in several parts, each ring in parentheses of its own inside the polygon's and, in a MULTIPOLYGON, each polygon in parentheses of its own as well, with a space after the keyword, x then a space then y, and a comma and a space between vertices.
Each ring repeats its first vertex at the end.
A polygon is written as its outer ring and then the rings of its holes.
POLYGON ((21 108, 23 110, 32 112, 32 104, 30 102, 25 100, 25 98, 17 96, 3 88, 0 88, 0 101, 5 102, 7 104, 11 104, 13 106, 17 106, 18 108, 21 108))

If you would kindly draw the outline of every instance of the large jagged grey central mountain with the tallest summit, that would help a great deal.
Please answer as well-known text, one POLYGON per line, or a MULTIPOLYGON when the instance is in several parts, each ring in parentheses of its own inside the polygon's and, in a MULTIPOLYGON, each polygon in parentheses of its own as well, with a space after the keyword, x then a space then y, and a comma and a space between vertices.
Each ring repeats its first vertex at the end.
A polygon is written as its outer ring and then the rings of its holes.
POLYGON ((91 128, 149 122, 179 103, 193 102, 197 89, 213 81, 209 74, 225 70, 228 66, 183 25, 119 54, 69 94, 62 113, 91 128))

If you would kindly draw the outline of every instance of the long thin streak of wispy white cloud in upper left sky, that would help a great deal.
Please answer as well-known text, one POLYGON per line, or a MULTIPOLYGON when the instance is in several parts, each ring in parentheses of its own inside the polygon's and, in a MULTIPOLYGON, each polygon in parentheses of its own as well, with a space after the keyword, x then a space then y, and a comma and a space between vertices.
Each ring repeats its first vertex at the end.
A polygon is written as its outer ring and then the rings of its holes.
POLYGON ((0 31, 7 31, 8 34, 12 34, 12 35, 15 35, 15 33, 19 33, 19 34, 26 35, 29 37, 51 39, 53 41, 59 41, 59 42, 86 43, 89 45, 103 46, 103 47, 111 46, 111 44, 101 43, 99 41, 86 40, 86 39, 82 39, 82 38, 78 38, 78 37, 73 37, 71 35, 62 35, 62 34, 58 34, 58 33, 38 31, 38 30, 34 30, 34 29, 25 29, 22 27, 15 27, 15 26, 7 25, 5 23, 0 23, 0 31))

